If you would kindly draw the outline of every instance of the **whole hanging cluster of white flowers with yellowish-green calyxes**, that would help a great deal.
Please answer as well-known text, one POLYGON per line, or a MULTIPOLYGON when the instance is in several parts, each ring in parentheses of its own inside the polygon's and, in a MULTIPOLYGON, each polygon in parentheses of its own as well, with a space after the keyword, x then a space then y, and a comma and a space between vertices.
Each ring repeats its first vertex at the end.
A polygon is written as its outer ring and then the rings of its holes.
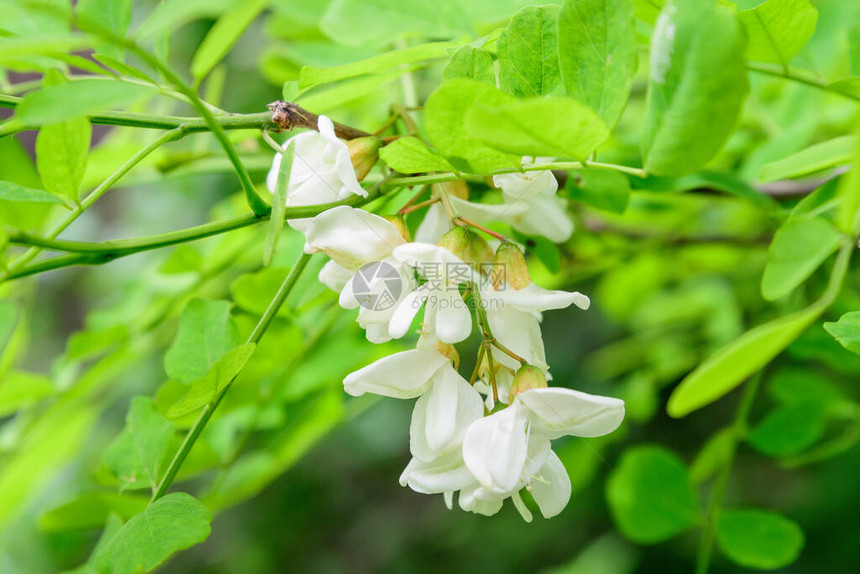
MULTIPOLYGON (((319 133, 295 136, 288 205, 313 205, 363 195, 350 148, 331 121, 319 133), (351 163, 350 163, 351 162, 351 163)), ((367 158, 359 158, 366 166, 367 158)), ((538 158, 537 162, 548 161, 538 158)), ((276 156, 270 186, 279 169, 276 156)), ((524 158, 528 167, 535 162, 524 158)), ((360 175, 367 169, 361 169, 360 175)), ((533 283, 519 246, 476 230, 502 221, 528 235, 564 241, 573 231, 550 171, 497 175, 502 203, 470 202, 463 182, 434 187, 415 240, 401 218, 339 206, 312 219, 293 220, 305 234, 307 253, 330 261, 320 280, 339 291, 340 305, 359 310, 367 339, 382 343, 416 330, 416 347, 384 357, 344 380, 351 395, 374 393, 417 399, 409 429, 412 460, 400 477, 421 493, 441 493, 449 508, 455 493, 467 511, 493 515, 510 498, 526 520, 527 489, 541 514, 567 505, 570 479, 551 441, 594 437, 615 430, 624 403, 615 398, 549 387, 541 313, 571 304, 587 309, 576 292, 533 283), (459 372, 455 344, 481 334, 470 380, 459 372)))

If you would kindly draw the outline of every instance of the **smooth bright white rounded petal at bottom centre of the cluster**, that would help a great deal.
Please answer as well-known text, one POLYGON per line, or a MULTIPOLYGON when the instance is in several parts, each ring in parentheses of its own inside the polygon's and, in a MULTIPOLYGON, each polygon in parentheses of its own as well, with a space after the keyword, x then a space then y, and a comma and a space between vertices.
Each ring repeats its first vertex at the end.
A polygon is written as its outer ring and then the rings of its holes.
POLYGON ((475 421, 463 439, 463 460, 478 482, 495 493, 520 484, 528 449, 527 416, 518 402, 475 421))

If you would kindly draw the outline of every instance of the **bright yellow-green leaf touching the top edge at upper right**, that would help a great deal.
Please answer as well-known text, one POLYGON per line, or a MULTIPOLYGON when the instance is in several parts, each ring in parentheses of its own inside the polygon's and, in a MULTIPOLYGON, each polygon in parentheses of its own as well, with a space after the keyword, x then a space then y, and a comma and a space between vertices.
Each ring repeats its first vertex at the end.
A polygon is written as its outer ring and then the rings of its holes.
POLYGON ((788 66, 815 32, 818 10, 809 0, 767 0, 738 13, 749 39, 747 58, 788 66))

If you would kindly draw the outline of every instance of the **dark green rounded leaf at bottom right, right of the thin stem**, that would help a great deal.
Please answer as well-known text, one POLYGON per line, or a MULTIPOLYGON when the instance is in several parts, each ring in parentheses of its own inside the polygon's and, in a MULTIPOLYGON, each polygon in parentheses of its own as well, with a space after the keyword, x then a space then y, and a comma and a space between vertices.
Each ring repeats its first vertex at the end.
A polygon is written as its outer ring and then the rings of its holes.
POLYGON ((717 525, 717 543, 736 564, 773 570, 797 560, 803 548, 803 531, 775 512, 725 510, 717 525))

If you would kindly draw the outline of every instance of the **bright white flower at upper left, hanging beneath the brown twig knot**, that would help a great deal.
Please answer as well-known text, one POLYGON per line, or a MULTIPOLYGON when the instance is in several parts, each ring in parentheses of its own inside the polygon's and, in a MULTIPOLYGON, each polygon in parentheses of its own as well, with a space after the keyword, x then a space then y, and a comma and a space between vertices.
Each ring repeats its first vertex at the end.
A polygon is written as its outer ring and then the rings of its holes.
MULTIPOLYGON (((319 131, 307 131, 290 138, 293 165, 287 185, 287 206, 318 205, 346 199, 350 195, 367 197, 352 167, 349 148, 334 133, 334 124, 326 116, 317 121, 319 131)), ((281 154, 275 154, 266 177, 269 191, 275 192, 281 154)), ((292 219, 289 224, 304 231, 309 219, 292 219)))

